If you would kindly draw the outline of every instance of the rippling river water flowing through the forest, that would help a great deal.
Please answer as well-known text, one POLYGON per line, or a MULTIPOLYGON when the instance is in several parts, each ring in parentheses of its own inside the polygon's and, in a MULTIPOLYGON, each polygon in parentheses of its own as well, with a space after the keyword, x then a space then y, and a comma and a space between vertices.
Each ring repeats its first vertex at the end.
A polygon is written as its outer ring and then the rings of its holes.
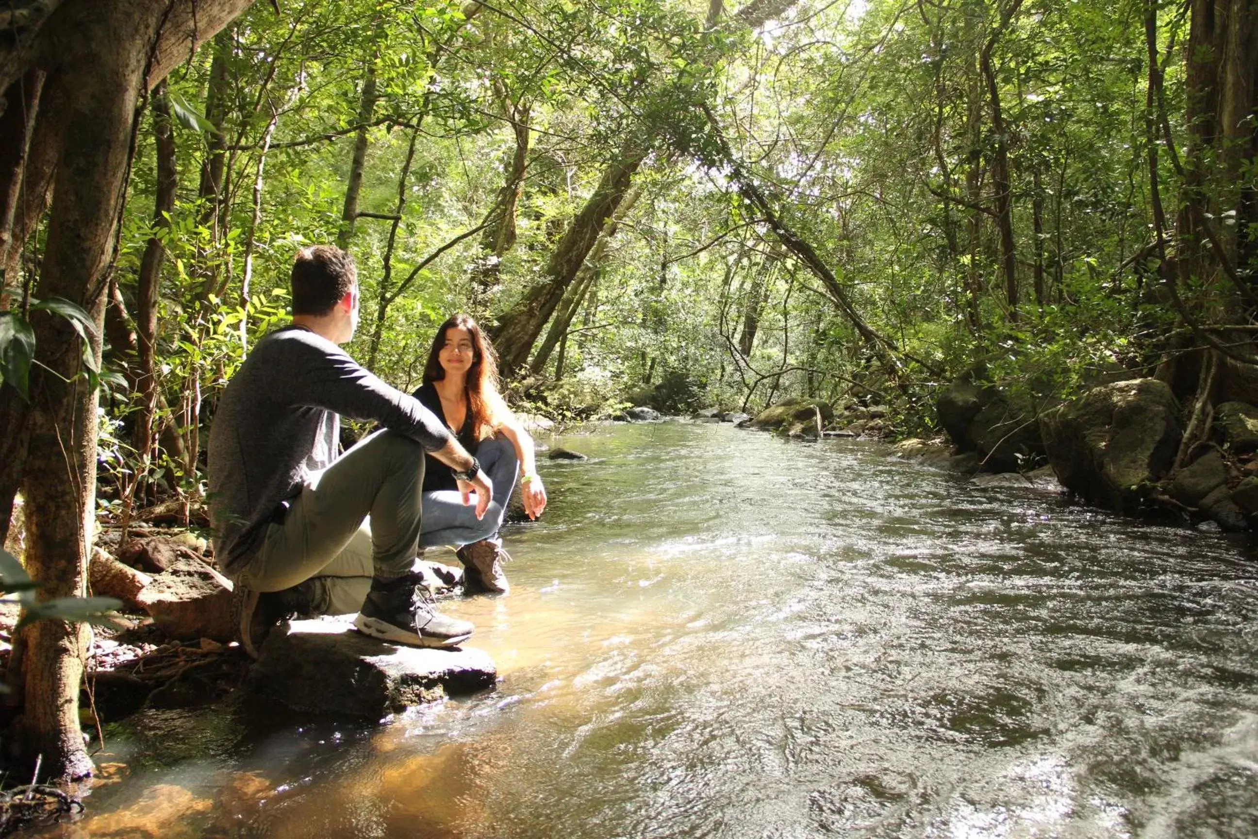
MULTIPOLYGON (((64 836, 1255 836, 1258 565, 854 440, 559 440, 497 689, 382 727, 142 712, 64 836)), ((453 556, 449 558, 453 560, 453 556)))

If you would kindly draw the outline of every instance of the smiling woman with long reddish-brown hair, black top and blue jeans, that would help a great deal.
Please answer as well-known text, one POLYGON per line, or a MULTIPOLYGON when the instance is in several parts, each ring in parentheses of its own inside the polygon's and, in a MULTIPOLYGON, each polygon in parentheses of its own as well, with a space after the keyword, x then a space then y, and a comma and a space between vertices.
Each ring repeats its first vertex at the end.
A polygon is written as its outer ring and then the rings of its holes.
POLYGON ((530 518, 546 509, 546 487, 537 474, 533 438, 498 395, 498 358, 474 319, 455 314, 438 327, 424 366, 424 384, 414 396, 445 420, 493 481, 493 501, 478 521, 453 470, 428 457, 420 547, 457 546, 467 594, 507 594, 502 562, 511 557, 502 550, 498 528, 516 475, 522 469, 520 483, 530 518))

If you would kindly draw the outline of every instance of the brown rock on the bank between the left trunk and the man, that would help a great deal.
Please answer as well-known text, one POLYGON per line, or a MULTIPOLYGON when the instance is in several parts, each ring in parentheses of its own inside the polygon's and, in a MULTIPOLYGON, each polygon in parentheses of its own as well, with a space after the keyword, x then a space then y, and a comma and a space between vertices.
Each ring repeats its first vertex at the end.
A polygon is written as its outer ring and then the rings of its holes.
POLYGON ((201 560, 177 557, 135 600, 170 638, 235 639, 231 582, 201 560))

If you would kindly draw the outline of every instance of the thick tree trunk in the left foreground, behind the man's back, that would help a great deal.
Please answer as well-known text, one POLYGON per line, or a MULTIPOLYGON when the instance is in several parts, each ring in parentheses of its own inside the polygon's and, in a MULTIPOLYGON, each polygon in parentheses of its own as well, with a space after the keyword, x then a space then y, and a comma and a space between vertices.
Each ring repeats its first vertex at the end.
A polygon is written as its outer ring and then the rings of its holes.
MULTIPOLYGON (((177 52, 181 39, 194 38, 195 45, 247 5, 67 0, 44 25, 36 54, 50 68, 45 107, 63 114, 65 125, 57 145, 40 297, 78 303, 99 327, 136 102, 150 79, 160 79, 146 67, 153 44, 167 45, 155 64, 169 69, 176 55, 187 54, 177 52)), ((42 584, 42 599, 82 595, 94 513, 97 389, 83 375, 84 347, 70 325, 45 312, 31 321, 39 365, 31 371, 30 468, 23 481, 26 569, 42 584)), ((99 333, 97 328, 87 347, 97 358, 99 333)), ((42 755, 54 776, 92 771, 78 721, 86 634, 81 624, 52 620, 25 630, 23 745, 29 756, 42 755)))

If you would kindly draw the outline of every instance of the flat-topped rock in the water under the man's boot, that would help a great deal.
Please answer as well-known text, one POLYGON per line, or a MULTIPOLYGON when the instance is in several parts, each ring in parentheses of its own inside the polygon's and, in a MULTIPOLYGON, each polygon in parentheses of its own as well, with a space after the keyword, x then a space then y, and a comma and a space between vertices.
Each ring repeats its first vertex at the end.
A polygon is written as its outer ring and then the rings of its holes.
POLYGON ((389 644, 360 634, 348 620, 323 618, 270 633, 250 684, 294 711, 379 720, 493 687, 497 673, 482 649, 389 644))

